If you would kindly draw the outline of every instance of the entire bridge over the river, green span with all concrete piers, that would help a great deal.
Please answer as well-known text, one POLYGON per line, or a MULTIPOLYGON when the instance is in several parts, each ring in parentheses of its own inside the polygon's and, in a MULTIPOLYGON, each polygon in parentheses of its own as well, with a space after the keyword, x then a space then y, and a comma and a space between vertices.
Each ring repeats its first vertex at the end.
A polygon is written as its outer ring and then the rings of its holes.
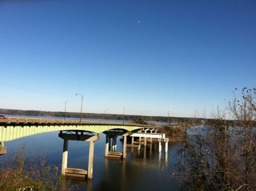
POLYGON ((159 153, 161 153, 161 142, 165 142, 165 153, 168 148, 168 138, 165 134, 157 133, 159 126, 141 125, 134 123, 90 121, 90 120, 64 120, 46 118, 14 118, 0 119, 0 155, 7 152, 4 142, 46 133, 60 131, 59 137, 64 140, 61 173, 67 176, 92 178, 94 141, 100 139, 99 133, 106 135, 105 157, 126 158, 126 147, 146 147, 147 140, 157 139, 159 142, 159 153), (123 152, 116 152, 117 136, 124 137, 123 152), (131 144, 127 144, 127 136, 131 137, 131 144), (134 141, 138 137, 138 141, 134 141), (88 169, 68 168, 68 140, 89 141, 88 169), (111 150, 112 149, 112 150, 111 150))

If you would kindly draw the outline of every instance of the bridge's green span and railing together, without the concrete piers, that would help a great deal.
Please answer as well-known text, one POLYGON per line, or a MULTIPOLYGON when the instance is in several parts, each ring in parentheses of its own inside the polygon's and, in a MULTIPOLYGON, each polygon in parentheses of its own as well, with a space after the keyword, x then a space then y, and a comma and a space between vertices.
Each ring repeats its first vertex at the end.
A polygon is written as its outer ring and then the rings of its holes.
POLYGON ((47 118, 22 118, 8 117, 0 119, 0 147, 3 142, 31 136, 39 133, 52 131, 85 131, 101 133, 104 131, 122 129, 124 132, 134 130, 159 129, 153 125, 141 125, 135 123, 91 121, 91 120, 70 120, 70 119, 47 119, 47 118))

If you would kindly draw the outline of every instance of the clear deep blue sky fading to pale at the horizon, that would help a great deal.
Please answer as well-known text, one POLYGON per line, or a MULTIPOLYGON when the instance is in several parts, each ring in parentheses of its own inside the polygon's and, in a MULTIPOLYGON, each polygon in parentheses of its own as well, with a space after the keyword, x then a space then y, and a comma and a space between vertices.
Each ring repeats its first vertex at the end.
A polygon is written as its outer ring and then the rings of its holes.
POLYGON ((256 1, 0 2, 0 108, 209 116, 255 80, 256 1))

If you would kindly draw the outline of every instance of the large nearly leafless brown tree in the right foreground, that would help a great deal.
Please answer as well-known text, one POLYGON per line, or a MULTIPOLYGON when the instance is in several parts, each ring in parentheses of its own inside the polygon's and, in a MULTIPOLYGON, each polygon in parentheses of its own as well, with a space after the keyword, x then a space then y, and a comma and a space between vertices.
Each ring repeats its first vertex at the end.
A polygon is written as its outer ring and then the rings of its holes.
POLYGON ((217 109, 212 113, 212 125, 188 128, 180 148, 180 170, 175 174, 183 187, 256 189, 256 89, 244 87, 240 99, 235 91, 226 107, 233 125, 226 123, 225 110, 217 109))

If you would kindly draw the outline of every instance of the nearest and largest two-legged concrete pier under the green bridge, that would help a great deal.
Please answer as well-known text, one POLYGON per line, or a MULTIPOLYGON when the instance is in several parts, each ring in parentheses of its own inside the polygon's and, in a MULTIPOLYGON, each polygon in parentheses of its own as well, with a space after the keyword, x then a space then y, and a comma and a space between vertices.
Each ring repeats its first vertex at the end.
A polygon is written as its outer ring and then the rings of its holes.
POLYGON ((99 135, 83 135, 83 132, 81 134, 78 134, 78 132, 76 134, 63 134, 61 132, 59 133, 59 137, 64 140, 61 174, 66 176, 91 179, 93 175, 94 141, 99 140, 100 136, 99 135), (68 141, 69 140, 90 141, 89 160, 88 160, 87 170, 68 168, 68 141))

